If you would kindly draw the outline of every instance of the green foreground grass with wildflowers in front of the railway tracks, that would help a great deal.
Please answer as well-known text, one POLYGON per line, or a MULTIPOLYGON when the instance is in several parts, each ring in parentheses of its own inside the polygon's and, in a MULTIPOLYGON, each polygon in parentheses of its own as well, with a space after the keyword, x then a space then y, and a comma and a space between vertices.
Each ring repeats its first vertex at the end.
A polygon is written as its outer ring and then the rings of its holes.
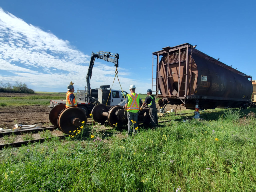
POLYGON ((256 191, 256 110, 219 112, 3 149, 0 191, 256 191))

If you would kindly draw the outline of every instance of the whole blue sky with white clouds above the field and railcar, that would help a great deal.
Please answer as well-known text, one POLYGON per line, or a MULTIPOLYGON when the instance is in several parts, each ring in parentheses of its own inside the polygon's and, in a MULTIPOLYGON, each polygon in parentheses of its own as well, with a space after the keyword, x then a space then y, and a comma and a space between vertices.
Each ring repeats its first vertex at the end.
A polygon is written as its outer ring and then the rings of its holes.
MULTIPOLYGON (((0 81, 35 91, 84 89, 91 52, 118 53, 129 91, 152 85, 152 52, 184 43, 256 79, 256 1, 0 2, 0 81)), ((91 88, 112 85, 114 63, 95 60, 91 88)), ((115 80, 114 89, 120 89, 115 80)))

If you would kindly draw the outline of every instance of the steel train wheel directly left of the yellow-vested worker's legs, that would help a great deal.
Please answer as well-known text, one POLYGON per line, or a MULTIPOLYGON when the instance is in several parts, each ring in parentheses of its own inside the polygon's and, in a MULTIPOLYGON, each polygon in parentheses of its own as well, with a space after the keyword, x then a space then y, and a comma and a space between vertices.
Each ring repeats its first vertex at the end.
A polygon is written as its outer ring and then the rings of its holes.
POLYGON ((108 124, 114 127, 115 123, 117 123, 118 127, 127 124, 127 116, 124 115, 123 106, 113 106, 108 112, 108 124))

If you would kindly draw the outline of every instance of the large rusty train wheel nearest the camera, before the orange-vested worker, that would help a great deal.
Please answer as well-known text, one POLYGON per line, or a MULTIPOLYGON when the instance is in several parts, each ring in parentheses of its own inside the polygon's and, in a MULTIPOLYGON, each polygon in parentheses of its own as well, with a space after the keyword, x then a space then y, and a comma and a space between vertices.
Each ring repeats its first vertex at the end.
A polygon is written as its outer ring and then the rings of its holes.
POLYGON ((86 113, 83 109, 79 107, 69 107, 61 111, 58 117, 58 127, 66 134, 76 130, 82 124, 82 122, 87 122, 86 113))

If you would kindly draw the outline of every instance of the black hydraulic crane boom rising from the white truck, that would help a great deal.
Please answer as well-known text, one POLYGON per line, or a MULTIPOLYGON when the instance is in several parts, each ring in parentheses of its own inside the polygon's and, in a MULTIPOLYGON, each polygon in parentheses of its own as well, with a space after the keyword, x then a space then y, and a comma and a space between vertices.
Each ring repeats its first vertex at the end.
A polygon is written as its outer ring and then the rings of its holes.
POLYGON ((105 52, 105 51, 99 51, 96 54, 94 52, 92 52, 92 57, 91 57, 91 61, 89 64, 89 68, 88 68, 88 73, 86 76, 86 81, 87 81, 87 95, 89 96, 91 94, 91 77, 92 77, 92 68, 94 65, 94 61, 95 58, 100 58, 103 59, 105 61, 110 61, 112 63, 115 63, 115 67, 118 67, 118 59, 119 59, 119 55, 117 53, 113 54, 111 52, 105 52))

